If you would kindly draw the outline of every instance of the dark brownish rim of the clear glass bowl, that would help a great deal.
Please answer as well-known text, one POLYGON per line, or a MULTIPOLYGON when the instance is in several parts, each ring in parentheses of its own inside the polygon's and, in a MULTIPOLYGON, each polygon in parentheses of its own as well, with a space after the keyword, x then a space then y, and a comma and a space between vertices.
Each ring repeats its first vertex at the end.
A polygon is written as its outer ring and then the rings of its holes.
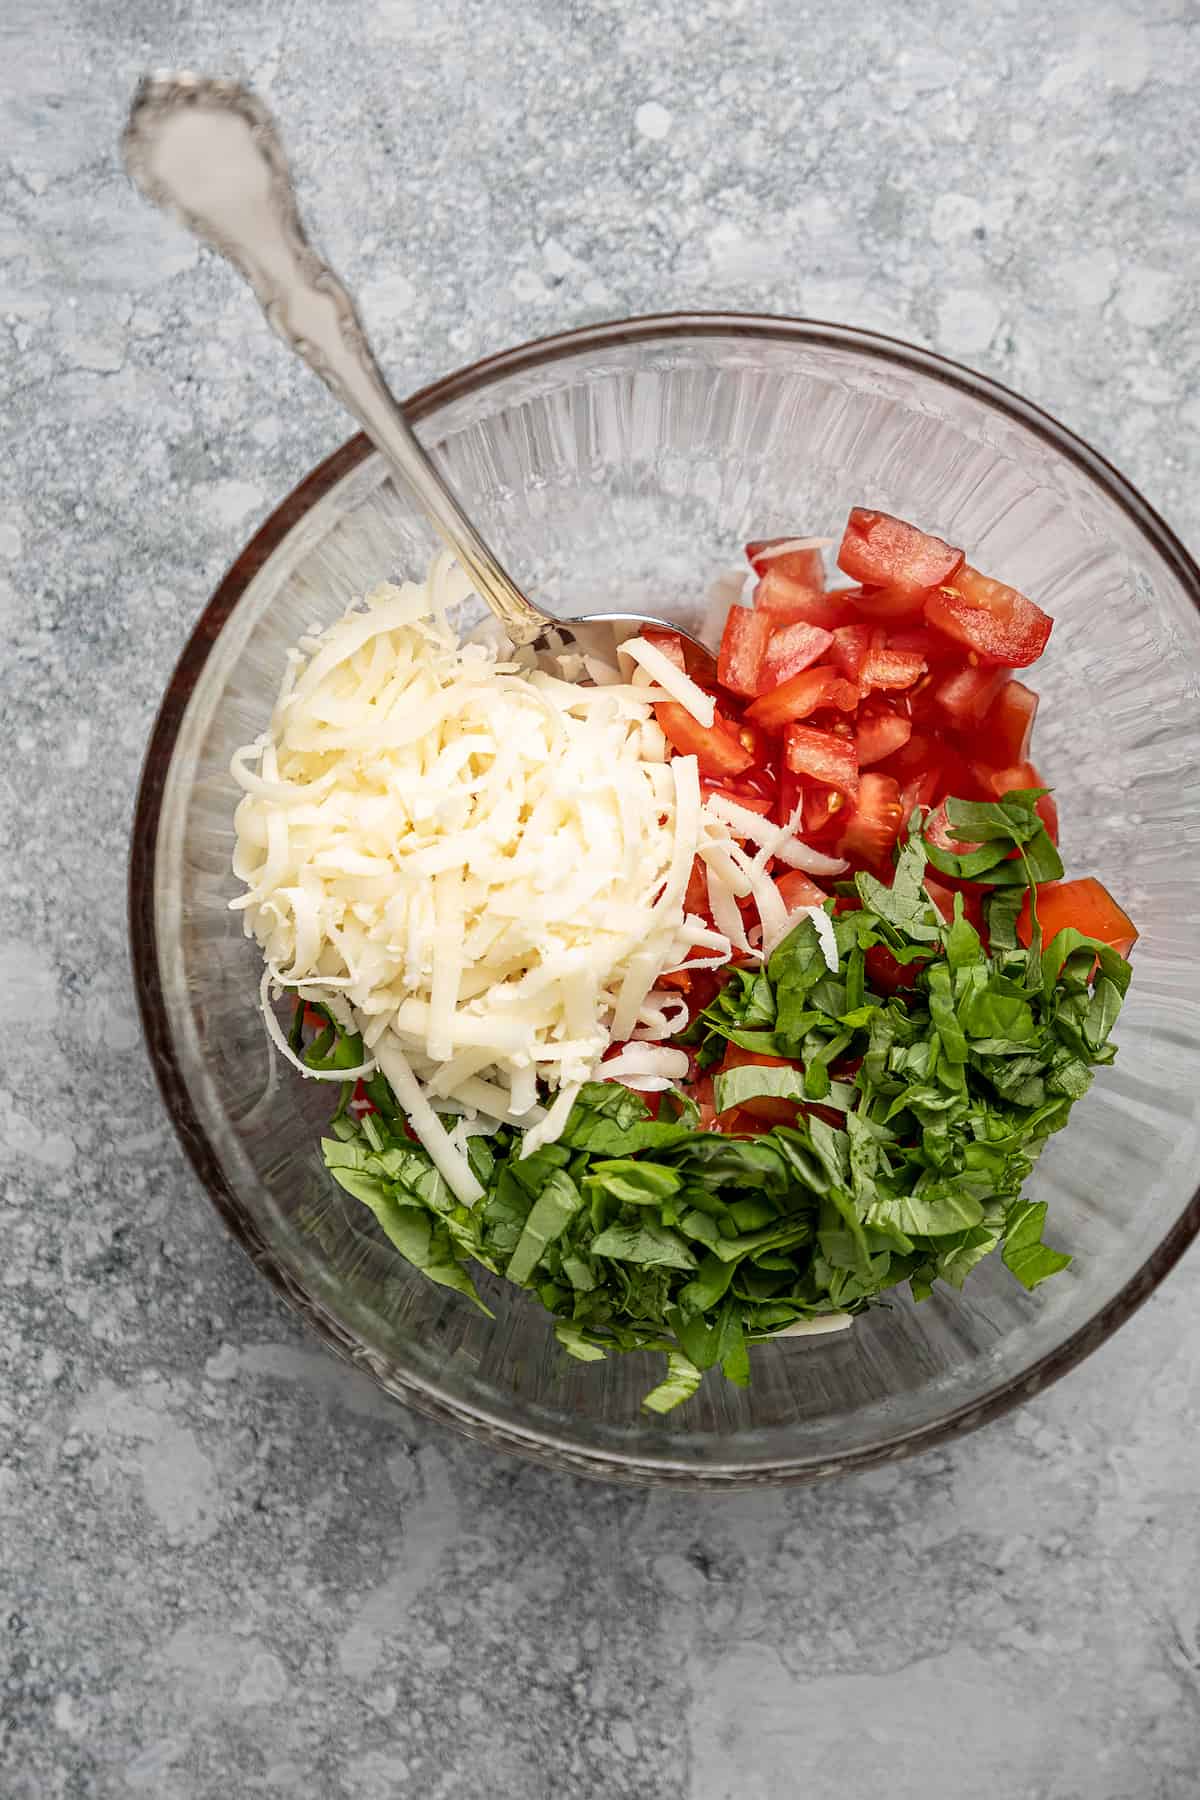
MULTIPOLYGON (((835 324, 831 320, 795 319, 770 313, 646 313, 631 319, 606 320, 603 324, 581 326, 560 331, 551 337, 533 338, 511 349, 497 351, 477 362, 441 376, 419 389, 405 401, 405 412, 412 425, 419 425, 430 414, 468 394, 489 387, 495 380, 538 369, 542 365, 576 356, 585 351, 608 346, 630 346, 669 338, 703 337, 743 337, 752 340, 775 340, 786 344, 808 344, 826 349, 855 349, 882 362, 932 376, 943 385, 993 407, 1038 437, 1049 443, 1060 455, 1065 455, 1076 468, 1097 482, 1137 529, 1148 538, 1155 553, 1168 563, 1175 578, 1189 594, 1191 603, 1200 612, 1200 567, 1184 549, 1171 527, 1162 520, 1153 506, 1126 481, 1106 457, 1092 450, 1081 437, 1054 419, 1042 407, 1024 400, 991 376, 979 374, 963 364, 939 356, 936 351, 909 344, 903 338, 858 326, 835 324)), ((398 1370, 376 1352, 362 1345, 342 1321, 329 1312, 308 1289, 300 1287, 291 1273, 275 1258, 270 1244, 259 1231, 255 1220, 243 1210, 236 1192, 225 1179, 223 1168, 212 1143, 200 1121, 196 1107, 184 1078, 184 1069, 171 1037, 166 1001, 158 979, 158 941, 155 925, 155 864, 158 846, 158 826, 162 819, 162 799, 166 781, 184 722, 201 670, 212 652, 225 623, 237 607, 246 587, 304 518, 331 488, 358 468, 372 454, 369 439, 358 432, 340 445, 331 455, 318 463, 308 475, 281 500, 281 504, 259 526, 248 544, 239 551, 225 576, 214 589, 200 619, 196 621, 184 652, 171 673, 164 698, 151 729, 142 774, 137 792, 133 833, 130 848, 130 887, 128 916, 133 961, 133 983, 137 992, 142 1031, 149 1051, 151 1067, 158 1082, 167 1114, 180 1138, 180 1143, 200 1177, 210 1202, 221 1217, 225 1228, 246 1251, 261 1274, 277 1292, 320 1334, 320 1337, 344 1359, 365 1370, 385 1391, 412 1406, 426 1418, 452 1426, 475 1442, 493 1449, 516 1453, 549 1467, 594 1476, 610 1481, 673 1485, 682 1489, 745 1489, 774 1483, 802 1483, 847 1474, 851 1471, 871 1469, 885 1462, 896 1462, 919 1451, 948 1444, 966 1431, 999 1418, 1009 1408, 1033 1399, 1052 1381, 1058 1381, 1070 1368, 1092 1354, 1108 1339, 1128 1318, 1150 1298, 1153 1289, 1175 1267, 1187 1246, 1200 1235, 1200 1186, 1193 1192, 1180 1217, 1160 1238, 1146 1260, 1117 1289, 1117 1292, 1063 1343, 1047 1350, 1029 1368, 999 1381, 982 1399, 954 1408, 945 1417, 927 1424, 900 1429, 880 1438, 876 1444, 847 1451, 837 1458, 795 1458, 784 1456, 774 1462, 754 1463, 693 1463, 682 1458, 660 1456, 653 1453, 622 1453, 581 1449, 565 1436, 556 1436, 533 1426, 524 1427, 509 1418, 489 1415, 484 1408, 466 1406, 446 1395, 435 1393, 414 1373, 398 1370)))

